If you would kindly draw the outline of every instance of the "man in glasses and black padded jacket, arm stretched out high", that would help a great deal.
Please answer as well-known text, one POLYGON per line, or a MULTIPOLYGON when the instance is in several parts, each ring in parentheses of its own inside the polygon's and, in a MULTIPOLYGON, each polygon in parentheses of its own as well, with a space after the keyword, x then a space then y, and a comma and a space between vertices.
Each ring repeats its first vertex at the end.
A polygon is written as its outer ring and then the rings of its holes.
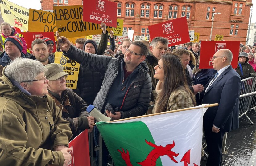
MULTIPOLYGON (((81 65, 105 72, 103 83, 93 105, 112 120, 144 115, 151 97, 151 78, 144 61, 147 46, 133 42, 124 55, 114 59, 109 56, 85 53, 71 45, 65 37, 62 46, 63 55, 72 58, 81 65)), ((95 128, 95 144, 98 131, 95 128)), ((108 151, 103 147, 103 166, 107 166, 108 151)), ((97 161, 96 161, 97 163, 97 161)), ((96 164, 97 165, 97 164, 96 164)))

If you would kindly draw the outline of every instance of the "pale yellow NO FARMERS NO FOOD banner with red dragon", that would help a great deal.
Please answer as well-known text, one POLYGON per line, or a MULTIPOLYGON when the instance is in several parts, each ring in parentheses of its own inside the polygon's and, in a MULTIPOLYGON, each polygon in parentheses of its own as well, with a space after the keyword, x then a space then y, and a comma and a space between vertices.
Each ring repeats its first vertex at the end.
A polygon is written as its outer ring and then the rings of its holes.
POLYGON ((11 26, 24 31, 28 29, 29 10, 7 0, 0 1, 2 18, 11 26))

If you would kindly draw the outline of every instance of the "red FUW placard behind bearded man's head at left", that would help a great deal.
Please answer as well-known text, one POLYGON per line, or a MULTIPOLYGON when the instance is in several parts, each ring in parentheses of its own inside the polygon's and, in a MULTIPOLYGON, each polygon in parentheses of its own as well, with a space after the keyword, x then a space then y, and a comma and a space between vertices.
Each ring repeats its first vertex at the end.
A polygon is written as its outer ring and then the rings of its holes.
MULTIPOLYGON (((55 41, 54 39, 54 32, 23 32, 22 35, 24 36, 24 39, 26 41, 27 44, 27 49, 30 51, 30 53, 32 53, 32 41, 34 41, 35 39, 40 39, 40 36, 43 35, 44 37, 50 38, 52 41, 55 41)), ((55 45, 55 42, 52 43, 55 45)), ((53 46, 53 53, 56 52, 56 47, 53 46)))

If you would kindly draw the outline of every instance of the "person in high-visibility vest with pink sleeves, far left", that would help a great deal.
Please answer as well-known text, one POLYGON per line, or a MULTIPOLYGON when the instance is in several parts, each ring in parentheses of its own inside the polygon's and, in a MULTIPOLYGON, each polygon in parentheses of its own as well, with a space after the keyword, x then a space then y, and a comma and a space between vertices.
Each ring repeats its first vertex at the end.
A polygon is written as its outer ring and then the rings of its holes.
POLYGON ((27 44, 26 44, 25 39, 23 38, 23 35, 18 34, 17 31, 14 28, 12 28, 9 23, 3 22, 0 25, 0 29, 1 29, 1 32, 2 32, 2 34, 0 34, 0 43, 3 46, 3 48, 4 48, 4 41, 7 37, 9 37, 9 36, 18 36, 19 38, 21 38, 22 43, 23 43, 22 52, 24 54, 26 54, 27 52, 30 53, 29 50, 27 49, 27 44))

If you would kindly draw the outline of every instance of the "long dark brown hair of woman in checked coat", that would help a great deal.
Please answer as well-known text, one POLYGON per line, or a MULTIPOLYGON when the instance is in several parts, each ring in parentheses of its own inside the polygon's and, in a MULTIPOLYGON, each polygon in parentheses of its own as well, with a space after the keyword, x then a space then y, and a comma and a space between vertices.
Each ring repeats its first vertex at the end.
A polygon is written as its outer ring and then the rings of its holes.
POLYGON ((166 52, 162 55, 161 59, 163 62, 164 81, 157 101, 157 110, 155 113, 166 111, 171 93, 179 86, 184 87, 184 89, 190 94, 192 102, 194 106, 196 106, 194 95, 188 88, 187 79, 180 57, 175 53, 166 52))

